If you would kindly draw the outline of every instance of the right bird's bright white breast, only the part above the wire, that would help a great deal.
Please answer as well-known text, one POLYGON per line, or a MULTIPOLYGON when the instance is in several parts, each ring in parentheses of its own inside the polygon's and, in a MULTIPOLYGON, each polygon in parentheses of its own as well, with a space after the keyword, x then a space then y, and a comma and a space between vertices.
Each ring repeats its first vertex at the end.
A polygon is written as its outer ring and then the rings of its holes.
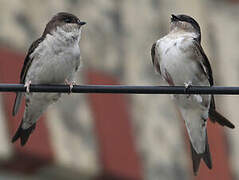
POLYGON ((165 36, 157 42, 160 69, 163 76, 170 74, 174 85, 193 82, 198 64, 192 59, 192 38, 188 36, 165 36))

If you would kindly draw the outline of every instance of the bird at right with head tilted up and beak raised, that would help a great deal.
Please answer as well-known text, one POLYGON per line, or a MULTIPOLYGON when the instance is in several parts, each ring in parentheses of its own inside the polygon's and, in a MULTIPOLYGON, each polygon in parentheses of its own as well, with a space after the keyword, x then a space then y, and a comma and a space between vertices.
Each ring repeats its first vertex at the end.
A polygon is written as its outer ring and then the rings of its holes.
MULTIPOLYGON (((209 60, 201 46, 201 29, 198 22, 185 14, 171 16, 169 33, 151 48, 151 60, 156 73, 169 86, 213 86, 209 60)), ((216 111, 213 95, 173 95, 189 135, 194 175, 201 159, 212 169, 207 137, 207 120, 222 126, 235 126, 216 111)))

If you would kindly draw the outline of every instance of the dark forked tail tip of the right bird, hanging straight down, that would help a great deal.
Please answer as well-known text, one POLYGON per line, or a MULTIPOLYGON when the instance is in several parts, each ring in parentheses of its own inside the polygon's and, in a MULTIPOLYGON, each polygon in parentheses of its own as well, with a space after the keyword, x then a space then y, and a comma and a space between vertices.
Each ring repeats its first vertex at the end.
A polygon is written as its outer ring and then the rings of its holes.
POLYGON ((212 169, 212 160, 211 160, 211 154, 210 154, 210 150, 209 150, 208 140, 206 140, 205 152, 202 153, 202 154, 198 154, 194 150, 191 142, 190 142, 190 145, 191 145, 191 152, 192 152, 192 161, 193 161, 193 172, 194 172, 194 175, 196 176, 197 173, 198 173, 198 169, 199 169, 199 165, 200 165, 201 159, 203 159, 203 161, 205 162, 205 164, 207 165, 207 167, 209 169, 212 169))

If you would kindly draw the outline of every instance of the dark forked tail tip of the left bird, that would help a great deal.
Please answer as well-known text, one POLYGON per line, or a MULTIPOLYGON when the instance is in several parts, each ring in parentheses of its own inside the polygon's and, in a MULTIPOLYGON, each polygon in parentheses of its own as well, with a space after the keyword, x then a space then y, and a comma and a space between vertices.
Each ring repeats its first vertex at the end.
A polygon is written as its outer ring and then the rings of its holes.
POLYGON ((34 123, 31 127, 29 127, 28 129, 23 129, 22 128, 22 123, 21 122, 20 126, 18 127, 17 132, 15 133, 15 135, 12 138, 12 143, 14 143, 16 140, 18 140, 20 138, 21 140, 21 146, 24 146, 30 136, 30 134, 33 132, 33 130, 36 128, 36 123, 34 123))

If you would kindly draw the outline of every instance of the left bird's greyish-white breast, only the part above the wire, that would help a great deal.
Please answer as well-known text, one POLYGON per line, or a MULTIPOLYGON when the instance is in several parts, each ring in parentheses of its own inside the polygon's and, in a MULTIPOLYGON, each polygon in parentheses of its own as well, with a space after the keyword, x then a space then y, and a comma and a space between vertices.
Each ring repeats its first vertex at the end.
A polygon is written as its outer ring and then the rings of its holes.
POLYGON ((77 38, 74 35, 61 29, 47 35, 31 55, 34 60, 26 80, 32 83, 64 83, 65 79, 71 79, 80 64, 80 32, 77 38))

